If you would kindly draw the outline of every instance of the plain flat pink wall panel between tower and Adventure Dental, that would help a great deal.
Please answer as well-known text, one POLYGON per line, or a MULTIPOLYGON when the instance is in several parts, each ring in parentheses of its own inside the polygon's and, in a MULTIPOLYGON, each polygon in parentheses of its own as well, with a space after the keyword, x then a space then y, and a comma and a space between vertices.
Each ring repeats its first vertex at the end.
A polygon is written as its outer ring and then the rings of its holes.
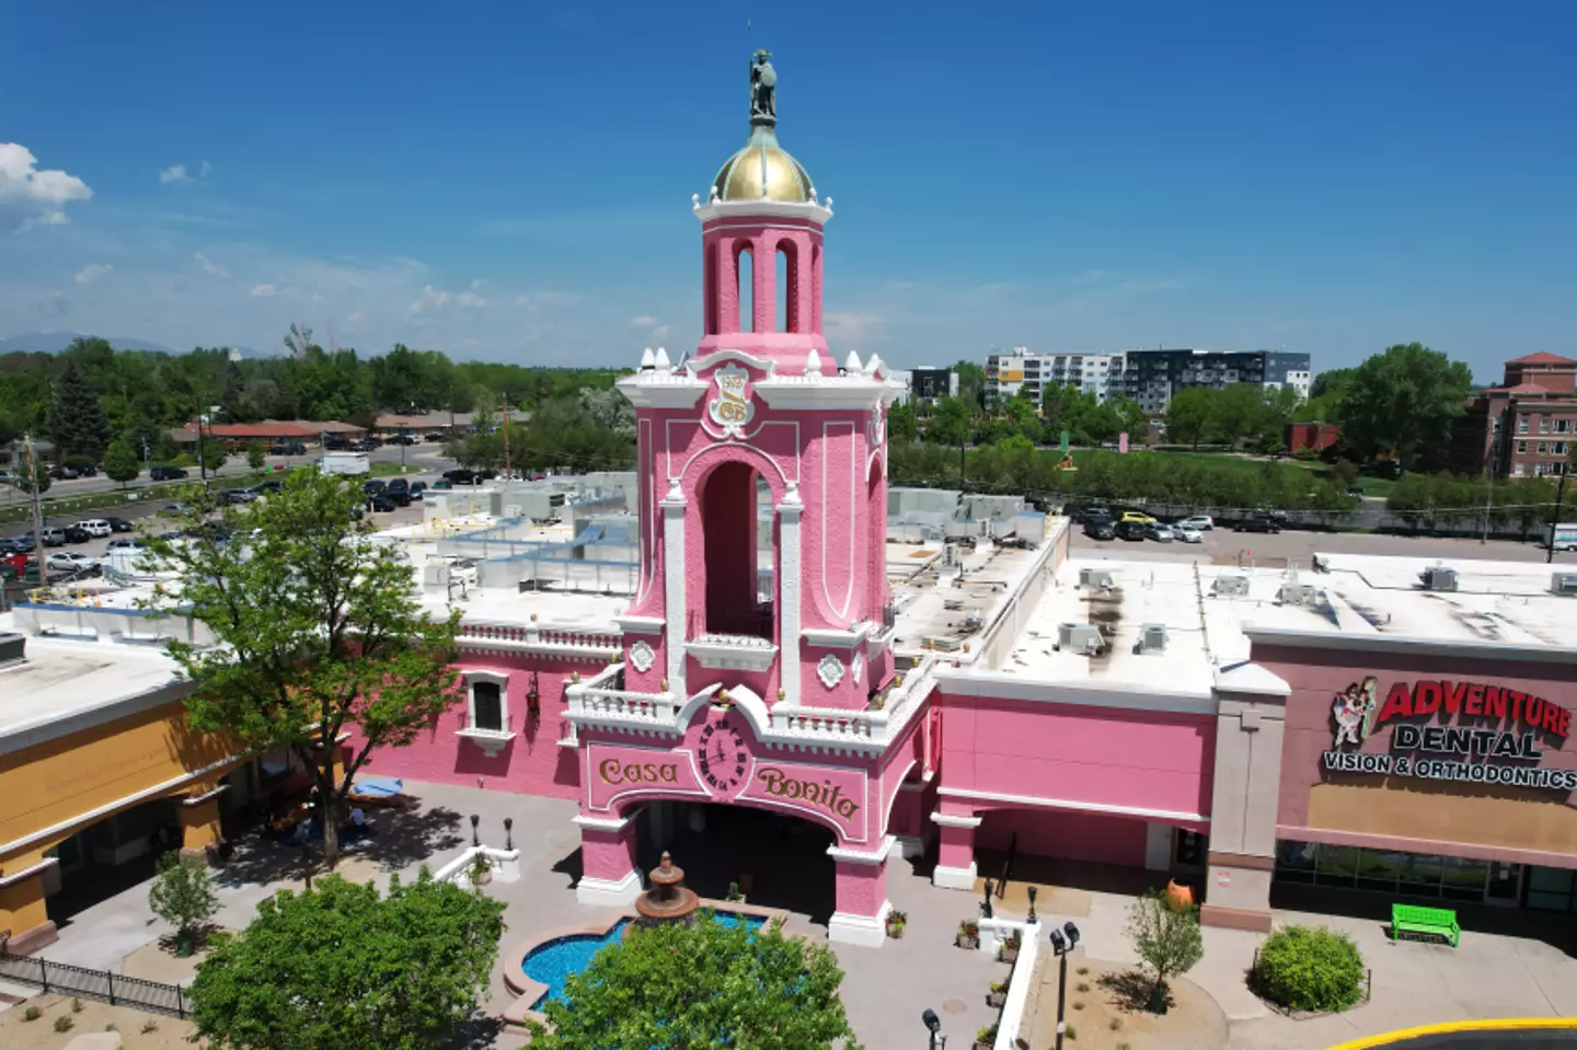
POLYGON ((943 790, 1210 815, 1210 716, 943 695, 941 727, 943 790))

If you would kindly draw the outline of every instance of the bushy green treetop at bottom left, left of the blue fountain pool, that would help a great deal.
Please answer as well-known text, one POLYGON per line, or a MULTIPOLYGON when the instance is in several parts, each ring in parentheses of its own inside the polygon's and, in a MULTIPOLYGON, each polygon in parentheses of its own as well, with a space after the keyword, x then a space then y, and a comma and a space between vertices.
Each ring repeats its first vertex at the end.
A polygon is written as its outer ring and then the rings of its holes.
POLYGON ((214 1050, 426 1050, 486 993, 501 933, 501 902, 426 867, 382 899, 331 875, 214 935, 192 1020, 214 1050))

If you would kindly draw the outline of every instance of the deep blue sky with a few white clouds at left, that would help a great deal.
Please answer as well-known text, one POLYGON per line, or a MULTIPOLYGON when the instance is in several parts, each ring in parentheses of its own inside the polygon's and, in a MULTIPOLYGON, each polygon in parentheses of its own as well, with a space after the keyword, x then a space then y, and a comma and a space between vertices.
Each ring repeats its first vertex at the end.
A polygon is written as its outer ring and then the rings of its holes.
POLYGON ((1577 353, 1574 38, 1563 0, 6 5, 0 337, 692 345, 689 199, 765 44, 839 353, 1418 339, 1493 378, 1577 353))

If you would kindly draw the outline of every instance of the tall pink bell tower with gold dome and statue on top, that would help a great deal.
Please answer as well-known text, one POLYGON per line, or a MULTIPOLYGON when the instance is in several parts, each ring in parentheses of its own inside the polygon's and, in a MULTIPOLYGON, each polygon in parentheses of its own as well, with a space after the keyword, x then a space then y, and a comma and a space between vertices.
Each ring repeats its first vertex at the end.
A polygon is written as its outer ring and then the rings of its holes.
POLYGON ((893 814, 900 790, 921 798, 932 686, 905 683, 893 653, 886 411, 902 388, 874 355, 828 350, 833 202, 777 145, 766 58, 751 65, 749 140, 692 199, 700 345, 678 363, 647 350, 620 382, 640 575, 618 618, 623 662, 566 692, 583 771, 576 895, 634 899, 637 821, 662 847, 681 807, 765 809, 833 832, 828 933, 878 946, 888 855, 919 840, 915 807, 893 814))

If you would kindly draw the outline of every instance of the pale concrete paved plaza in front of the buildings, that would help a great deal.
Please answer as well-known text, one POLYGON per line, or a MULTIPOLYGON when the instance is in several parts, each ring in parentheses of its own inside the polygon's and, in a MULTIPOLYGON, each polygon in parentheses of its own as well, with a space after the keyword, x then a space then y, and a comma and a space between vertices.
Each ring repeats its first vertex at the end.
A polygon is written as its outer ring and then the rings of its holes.
MULTIPOLYGON (((509 817, 514 820, 514 845, 520 850, 520 880, 495 880, 484 891, 506 903, 508 930, 501 951, 546 930, 595 924, 610 914, 576 902, 580 847, 579 829, 571 823, 576 802, 431 784, 407 784, 407 790, 419 799, 419 806, 410 812, 377 814, 378 834, 350 853, 342 866, 347 877, 383 881, 394 872, 402 878, 415 877, 423 864, 437 869, 470 845, 473 814, 483 843, 501 847, 503 820, 509 817)), ((754 862, 760 864, 762 858, 754 862)), ((265 895, 301 884, 301 858, 295 850, 252 836, 241 843, 237 859, 216 873, 216 880, 221 900, 216 924, 240 929, 265 895)), ((1142 889, 1134 873, 1123 877, 1117 870, 1093 869, 1077 881, 1077 886, 1041 884, 1038 911, 1042 922, 1077 922, 1083 933, 1080 960, 1096 971, 1134 965, 1137 959, 1124 933, 1129 902, 1142 889)), ((1023 889, 1025 883, 1012 883, 997 902, 997 914, 1022 918, 1027 911, 1023 889)), ((918 1042, 924 1039, 919 1015, 930 1007, 941 1017, 949 1042, 968 1045, 979 1028, 995 1020, 997 1011, 986 1006, 990 982, 1008 974, 1008 966, 989 955, 965 952, 953 944, 959 921, 978 914, 981 894, 937 889, 918 862, 900 859, 889 861, 888 892, 893 907, 908 913, 902 941, 880 949, 833 944, 847 974, 844 1003, 855 1030, 869 1050, 912 1050, 924 1045, 918 1042)), ((1189 1047, 1318 1050, 1345 1039, 1430 1022, 1577 1015, 1577 960, 1561 941, 1555 941, 1558 930, 1534 930, 1538 935, 1479 933, 1470 925, 1462 946, 1451 949, 1422 943, 1392 944, 1383 922, 1372 916, 1277 911, 1277 921, 1326 924, 1351 933, 1374 971, 1372 1000, 1337 1017, 1290 1020, 1266 1009, 1244 987, 1243 976, 1260 938, 1206 929, 1205 959, 1187 974, 1187 981, 1214 1000, 1228 1034, 1222 1044, 1219 1026, 1211 1022, 1189 1041, 1189 1047)), ((818 943, 826 938, 825 916, 814 921, 811 914, 796 911, 787 929, 818 943)), ((147 976, 155 976, 145 966, 150 965, 148 957, 158 952, 147 949, 166 933, 148 911, 147 883, 142 883, 79 911, 62 925, 60 941, 44 955, 115 973, 144 968, 147 976)), ((1047 965, 1036 974, 1038 990, 1031 996, 1025 1036, 1052 1031, 1047 1017, 1055 1015, 1057 1001, 1055 981, 1047 977, 1050 973, 1047 965)), ((178 968, 162 976, 183 979, 178 968)), ((503 974, 495 973, 486 1012, 497 1015, 513 1000, 503 974)), ((1210 1012, 1214 1015, 1214 1011, 1210 1012)), ((1124 1033, 1087 1026, 1079 1045, 1117 1047, 1118 1042, 1131 1042, 1137 1050, 1145 1045, 1135 1037, 1137 1028, 1135 1023, 1124 1033)), ((479 1026, 473 1036, 473 1045, 508 1048, 524 1044, 492 1025, 479 1026)), ((1035 1050, 1041 1048, 1035 1045, 1035 1050)))

